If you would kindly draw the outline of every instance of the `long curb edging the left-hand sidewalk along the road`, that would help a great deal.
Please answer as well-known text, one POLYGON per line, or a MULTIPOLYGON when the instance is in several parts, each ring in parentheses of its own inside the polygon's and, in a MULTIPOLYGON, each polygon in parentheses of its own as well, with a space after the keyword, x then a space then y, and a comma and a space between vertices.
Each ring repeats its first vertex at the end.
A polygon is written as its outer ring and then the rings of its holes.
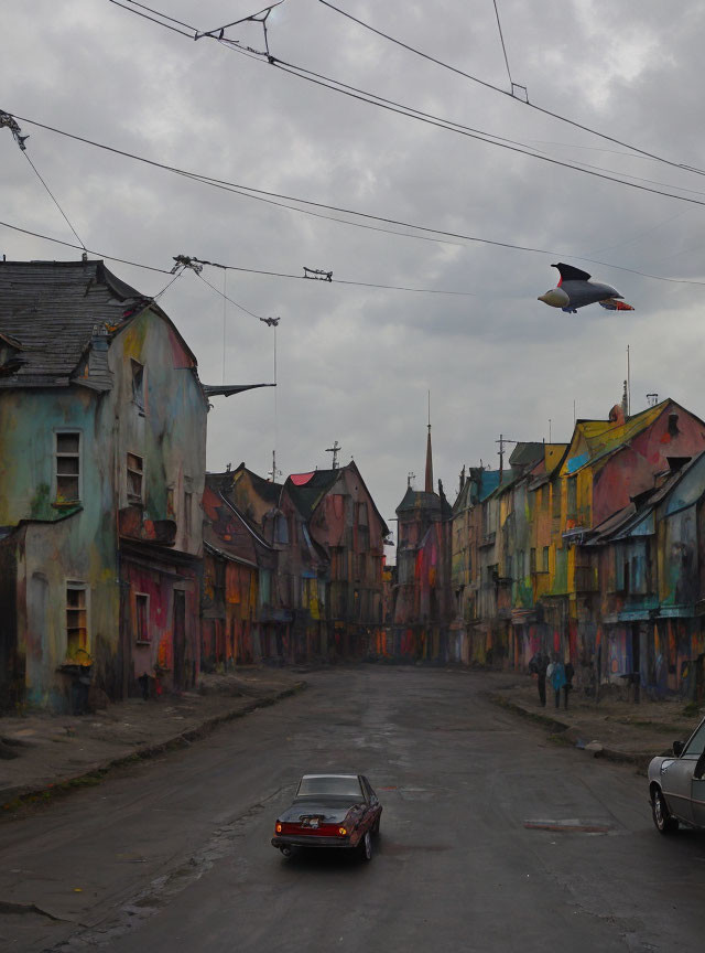
POLYGON ((213 715, 206 718, 194 728, 188 728, 185 731, 180 731, 171 738, 156 743, 140 745, 132 749, 127 754, 120 754, 118 758, 111 758, 109 761, 98 761, 95 764, 86 765, 76 774, 67 774, 57 781, 48 783, 19 786, 14 789, 6 789, 0 793, 3 803, 0 804, 0 811, 4 812, 6 816, 24 804, 30 804, 34 801, 45 801, 50 797, 59 794, 68 794, 70 791, 78 788, 90 788, 99 784, 102 779, 116 768, 121 768, 124 764, 131 764, 134 761, 154 758, 156 754, 163 754, 165 751, 171 751, 175 748, 184 748, 199 738, 205 738, 213 730, 227 721, 235 721, 237 718, 243 718, 250 715, 258 708, 269 708, 278 702, 283 702, 284 698, 291 698, 294 695, 303 692, 308 687, 306 682, 296 682, 290 688, 283 688, 274 695, 264 695, 261 698, 256 698, 248 702, 238 708, 230 708, 227 711, 221 711, 219 715, 213 715), (7 800, 4 800, 7 799, 7 800))

